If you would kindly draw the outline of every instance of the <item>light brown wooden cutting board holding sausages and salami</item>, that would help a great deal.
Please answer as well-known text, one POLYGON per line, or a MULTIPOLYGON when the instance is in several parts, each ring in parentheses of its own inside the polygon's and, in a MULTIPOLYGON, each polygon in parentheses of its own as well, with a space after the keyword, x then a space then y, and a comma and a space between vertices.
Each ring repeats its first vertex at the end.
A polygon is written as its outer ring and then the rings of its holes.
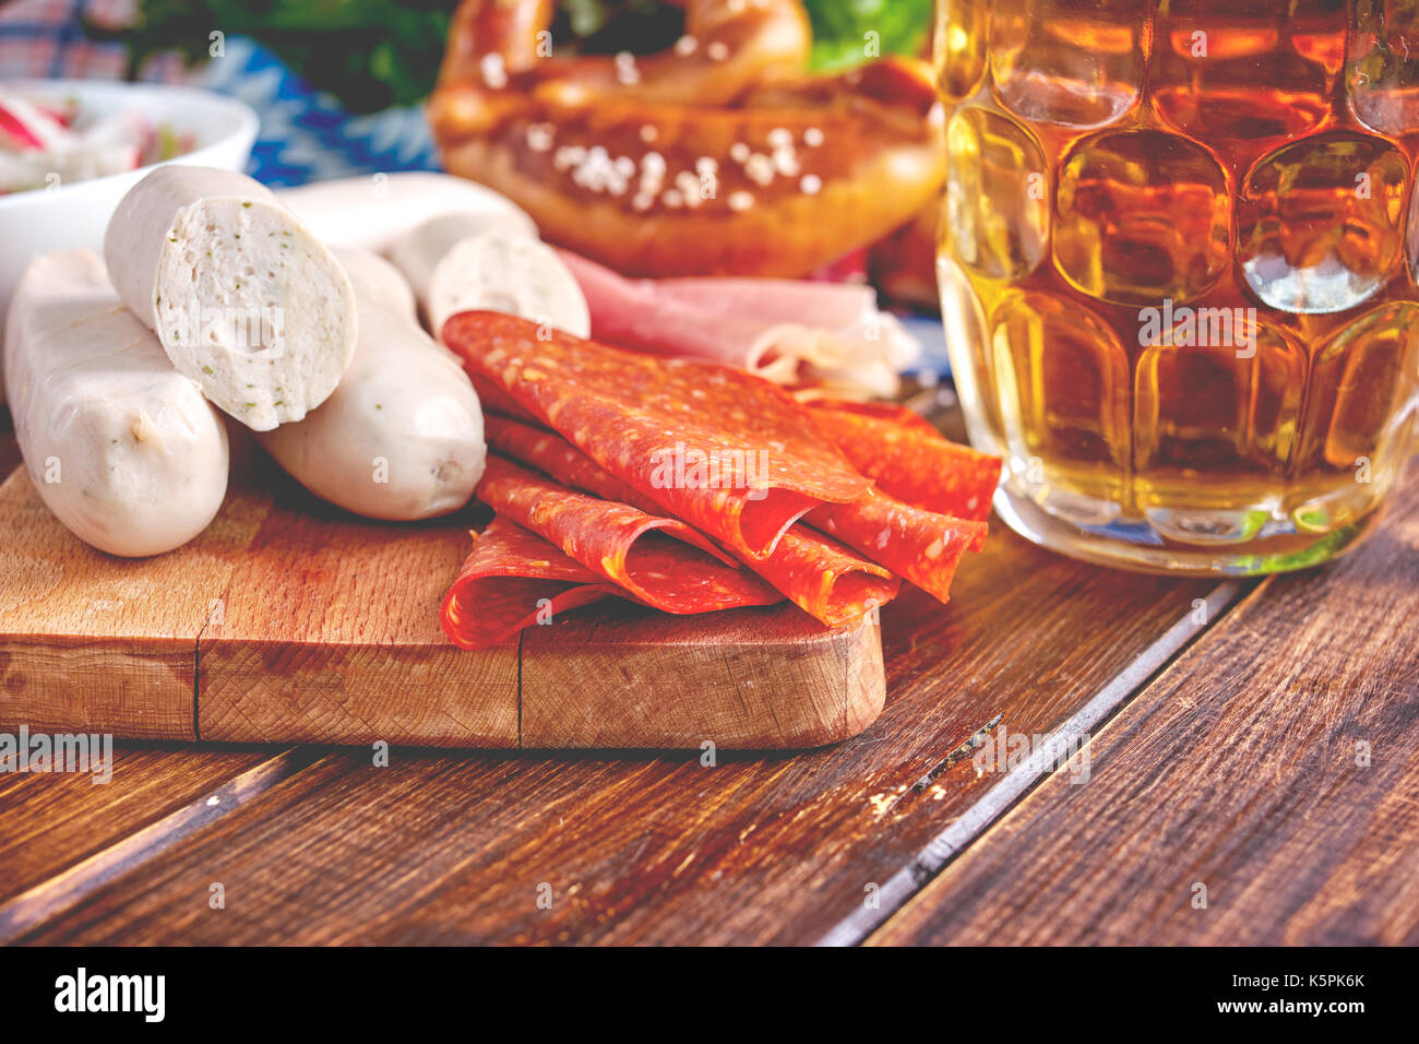
POLYGON ((0 486, 0 732, 437 747, 807 747, 883 707, 873 619, 792 605, 668 616, 619 601, 497 649, 444 638, 467 520, 385 524, 257 455, 177 551, 121 560, 0 486))

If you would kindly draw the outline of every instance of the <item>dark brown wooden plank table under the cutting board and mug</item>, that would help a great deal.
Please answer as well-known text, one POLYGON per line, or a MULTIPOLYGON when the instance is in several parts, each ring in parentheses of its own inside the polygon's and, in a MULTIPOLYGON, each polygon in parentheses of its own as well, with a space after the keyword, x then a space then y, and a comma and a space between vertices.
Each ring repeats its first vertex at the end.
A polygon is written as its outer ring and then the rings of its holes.
POLYGON ((993 521, 883 641, 881 719, 796 754, 123 744, 108 785, 0 776, 0 940, 1419 943, 1419 482, 1261 581, 993 521))

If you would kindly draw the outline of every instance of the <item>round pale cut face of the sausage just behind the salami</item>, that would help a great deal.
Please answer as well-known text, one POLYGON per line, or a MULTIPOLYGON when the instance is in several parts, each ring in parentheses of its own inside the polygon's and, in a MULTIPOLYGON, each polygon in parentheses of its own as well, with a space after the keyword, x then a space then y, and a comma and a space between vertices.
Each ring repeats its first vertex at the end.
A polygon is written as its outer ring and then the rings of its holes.
POLYGON ((521 315, 576 337, 590 337, 586 295, 562 259, 541 240, 502 230, 457 241, 433 264, 420 298, 438 334, 460 311, 521 315))

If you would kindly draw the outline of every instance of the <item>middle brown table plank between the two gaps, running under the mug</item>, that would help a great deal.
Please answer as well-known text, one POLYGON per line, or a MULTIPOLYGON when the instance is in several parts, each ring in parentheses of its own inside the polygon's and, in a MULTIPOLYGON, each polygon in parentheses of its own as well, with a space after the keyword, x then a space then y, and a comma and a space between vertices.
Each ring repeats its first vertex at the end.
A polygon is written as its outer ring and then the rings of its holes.
POLYGON ((341 753, 27 939, 815 942, 989 793, 954 760, 964 740, 992 720, 1067 722, 1131 666, 1158 666, 1159 638, 1213 589, 995 528, 951 607, 908 594, 883 611, 888 700, 857 739, 714 767, 700 751, 400 753, 386 768, 341 753), (227 885, 220 913, 211 881, 227 885))

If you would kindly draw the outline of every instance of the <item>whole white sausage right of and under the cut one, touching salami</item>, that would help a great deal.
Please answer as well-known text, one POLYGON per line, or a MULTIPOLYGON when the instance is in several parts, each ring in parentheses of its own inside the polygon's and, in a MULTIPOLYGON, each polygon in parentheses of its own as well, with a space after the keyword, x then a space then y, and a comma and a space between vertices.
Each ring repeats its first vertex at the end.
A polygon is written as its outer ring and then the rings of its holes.
POLYGON ((359 301, 355 361, 305 420, 257 436, 302 486, 370 518, 429 518, 482 477, 482 410, 454 357, 419 325, 389 261, 338 249, 359 301))

